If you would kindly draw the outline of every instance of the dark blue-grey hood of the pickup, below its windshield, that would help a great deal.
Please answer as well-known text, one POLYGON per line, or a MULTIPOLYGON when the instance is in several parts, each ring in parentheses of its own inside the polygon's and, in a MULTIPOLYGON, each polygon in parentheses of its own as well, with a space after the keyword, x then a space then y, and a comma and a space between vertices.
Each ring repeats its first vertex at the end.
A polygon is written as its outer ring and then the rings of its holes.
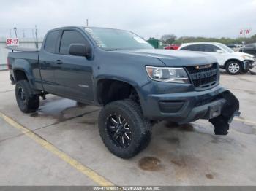
POLYGON ((119 50, 116 52, 157 58, 165 66, 198 66, 217 62, 216 58, 211 55, 185 50, 141 49, 119 50))

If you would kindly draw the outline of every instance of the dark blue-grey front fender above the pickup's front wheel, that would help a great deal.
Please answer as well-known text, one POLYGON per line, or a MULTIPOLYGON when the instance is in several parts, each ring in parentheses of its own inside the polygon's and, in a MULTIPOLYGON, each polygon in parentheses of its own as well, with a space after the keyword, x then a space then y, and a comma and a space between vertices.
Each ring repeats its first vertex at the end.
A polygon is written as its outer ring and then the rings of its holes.
MULTIPOLYGON (((124 52, 95 50, 93 66, 94 101, 97 100, 97 83, 100 79, 113 79, 126 82, 137 91, 140 101, 143 99, 141 87, 151 81, 146 66, 165 66, 159 59, 142 55, 129 55, 124 52)), ((97 103, 97 102, 96 102, 97 103)))

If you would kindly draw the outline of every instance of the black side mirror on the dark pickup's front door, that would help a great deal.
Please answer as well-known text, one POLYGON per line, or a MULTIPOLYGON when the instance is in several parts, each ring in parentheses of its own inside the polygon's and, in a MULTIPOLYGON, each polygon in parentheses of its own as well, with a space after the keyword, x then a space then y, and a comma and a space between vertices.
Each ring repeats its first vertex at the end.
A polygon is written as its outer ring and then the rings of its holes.
POLYGON ((85 44, 70 44, 69 55, 79 55, 91 58, 91 48, 86 47, 85 44))

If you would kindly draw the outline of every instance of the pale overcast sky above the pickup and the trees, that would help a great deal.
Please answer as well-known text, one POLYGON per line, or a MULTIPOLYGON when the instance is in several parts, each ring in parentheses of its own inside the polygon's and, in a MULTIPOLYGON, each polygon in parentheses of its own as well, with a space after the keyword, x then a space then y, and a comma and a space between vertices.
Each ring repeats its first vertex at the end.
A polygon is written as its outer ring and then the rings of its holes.
POLYGON ((0 0, 0 36, 39 36, 59 26, 121 28, 143 36, 231 37, 256 34, 256 0, 0 0), (10 31, 10 29, 12 29, 10 31), (22 31, 24 30, 24 31, 22 31))

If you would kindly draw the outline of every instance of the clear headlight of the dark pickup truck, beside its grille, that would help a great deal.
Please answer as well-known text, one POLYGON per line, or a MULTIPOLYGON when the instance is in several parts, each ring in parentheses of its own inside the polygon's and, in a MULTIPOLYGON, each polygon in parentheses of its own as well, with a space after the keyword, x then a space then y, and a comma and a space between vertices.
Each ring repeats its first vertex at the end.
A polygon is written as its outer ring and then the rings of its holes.
POLYGON ((164 68, 146 66, 148 76, 160 82, 189 83, 187 73, 183 68, 164 68))

